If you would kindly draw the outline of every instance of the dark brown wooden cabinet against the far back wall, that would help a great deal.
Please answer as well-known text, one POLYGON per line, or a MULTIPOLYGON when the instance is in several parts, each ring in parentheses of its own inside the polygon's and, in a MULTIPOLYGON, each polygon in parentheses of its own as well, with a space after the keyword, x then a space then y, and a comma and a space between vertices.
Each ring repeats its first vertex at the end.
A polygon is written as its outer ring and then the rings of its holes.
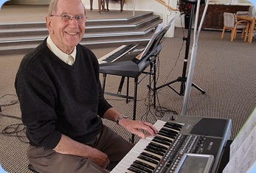
MULTIPOLYGON (((250 6, 241 5, 221 5, 210 4, 207 9, 207 15, 204 18, 203 29, 223 29, 224 18, 223 15, 227 13, 236 13, 238 11, 249 11, 250 6)), ((204 5, 200 7, 199 19, 204 11, 204 5)))

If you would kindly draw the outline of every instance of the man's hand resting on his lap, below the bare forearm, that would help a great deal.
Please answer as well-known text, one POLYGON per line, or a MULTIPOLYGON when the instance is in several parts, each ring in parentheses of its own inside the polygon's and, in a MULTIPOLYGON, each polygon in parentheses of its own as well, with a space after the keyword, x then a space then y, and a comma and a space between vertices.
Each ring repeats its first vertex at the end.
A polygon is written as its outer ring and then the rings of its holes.
POLYGON ((108 155, 99 149, 91 148, 88 158, 102 168, 106 168, 109 164, 108 155))

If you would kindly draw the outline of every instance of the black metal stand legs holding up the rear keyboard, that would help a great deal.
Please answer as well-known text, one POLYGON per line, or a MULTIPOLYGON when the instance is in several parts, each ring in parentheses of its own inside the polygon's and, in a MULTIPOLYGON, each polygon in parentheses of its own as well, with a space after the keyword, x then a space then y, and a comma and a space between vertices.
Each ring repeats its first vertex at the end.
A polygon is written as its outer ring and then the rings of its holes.
MULTIPOLYGON (((149 74, 150 77, 153 76, 153 96, 155 98, 156 94, 155 94, 155 88, 156 88, 156 66, 155 66, 155 63, 156 63, 156 56, 152 56, 151 57, 151 63, 150 63, 150 71, 148 72, 145 72, 143 71, 142 74, 149 74)), ((120 75, 115 75, 115 76, 120 76, 120 75)), ((109 92, 105 92, 105 83, 106 83, 106 78, 107 78, 107 74, 103 73, 103 92, 104 94, 106 95, 109 95, 109 96, 117 96, 117 97, 120 97, 120 98, 125 98, 125 102, 128 103, 130 99, 133 99, 134 100, 134 109, 133 109, 133 120, 136 120, 136 102, 137 102, 137 93, 138 93, 138 80, 139 80, 139 76, 136 76, 136 77, 132 77, 134 78, 134 96, 129 96, 129 80, 130 80, 130 77, 127 77, 127 85, 126 85, 126 95, 122 95, 122 94, 118 94, 118 93, 109 93, 109 92)), ((123 76, 121 76, 123 77, 123 76)), ((151 88, 149 88, 151 89, 151 88)), ((155 101, 154 101, 155 102, 155 101)), ((134 134, 131 135, 131 143, 134 144, 134 134)))

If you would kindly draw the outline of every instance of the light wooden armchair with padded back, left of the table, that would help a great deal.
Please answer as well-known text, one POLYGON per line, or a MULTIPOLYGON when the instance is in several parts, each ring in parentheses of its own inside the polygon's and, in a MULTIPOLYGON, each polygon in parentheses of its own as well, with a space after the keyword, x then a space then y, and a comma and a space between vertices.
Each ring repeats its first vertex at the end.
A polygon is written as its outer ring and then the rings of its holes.
POLYGON ((224 38, 226 30, 231 30, 231 41, 233 41, 234 38, 236 38, 237 29, 242 29, 241 38, 243 39, 243 35, 248 34, 249 22, 243 20, 237 21, 236 15, 234 13, 224 13, 224 27, 221 38, 224 38))

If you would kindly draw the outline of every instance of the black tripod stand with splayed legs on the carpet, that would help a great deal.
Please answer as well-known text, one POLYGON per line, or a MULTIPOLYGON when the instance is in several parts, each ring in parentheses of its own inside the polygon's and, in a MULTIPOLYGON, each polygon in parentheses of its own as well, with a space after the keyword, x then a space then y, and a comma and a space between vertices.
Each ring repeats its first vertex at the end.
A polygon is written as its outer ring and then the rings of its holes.
MULTIPOLYGON (((160 88, 168 86, 173 91, 178 93, 179 96, 183 96, 184 95, 184 91, 185 91, 185 88, 186 88, 186 81, 187 81, 187 77, 186 77, 187 57, 188 57, 188 54, 189 54, 189 51, 190 51, 190 34, 191 34, 191 28, 192 28, 193 13, 194 13, 194 9, 195 9, 195 5, 196 5, 197 0, 182 0, 182 1, 192 4, 192 8, 191 8, 191 11, 190 11, 190 24, 189 24, 188 31, 187 31, 187 38, 183 38, 183 40, 186 41, 186 51, 185 51, 182 75, 181 75, 181 77, 178 77, 176 80, 167 82, 164 85, 161 85, 161 86, 156 88, 156 91, 157 91, 160 88), (180 91, 179 92, 176 91, 176 89, 174 89, 173 87, 170 86, 171 84, 176 83, 176 82, 181 82, 181 86, 180 86, 180 91)), ((205 93, 205 91, 203 89, 201 89, 200 87, 198 87, 198 85, 196 85, 195 83, 192 83, 192 86, 195 87, 196 89, 198 89, 198 91, 201 91, 201 93, 203 93, 203 94, 205 93)))

